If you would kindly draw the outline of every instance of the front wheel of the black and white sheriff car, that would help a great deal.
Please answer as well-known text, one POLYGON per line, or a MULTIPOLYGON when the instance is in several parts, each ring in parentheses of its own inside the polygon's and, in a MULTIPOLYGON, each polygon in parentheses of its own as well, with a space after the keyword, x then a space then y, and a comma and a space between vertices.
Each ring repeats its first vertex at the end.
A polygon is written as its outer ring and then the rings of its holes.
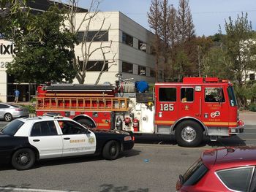
POLYGON ((107 142, 107 144, 103 147, 102 156, 107 160, 114 160, 118 158, 119 153, 120 153, 119 143, 112 140, 107 142))

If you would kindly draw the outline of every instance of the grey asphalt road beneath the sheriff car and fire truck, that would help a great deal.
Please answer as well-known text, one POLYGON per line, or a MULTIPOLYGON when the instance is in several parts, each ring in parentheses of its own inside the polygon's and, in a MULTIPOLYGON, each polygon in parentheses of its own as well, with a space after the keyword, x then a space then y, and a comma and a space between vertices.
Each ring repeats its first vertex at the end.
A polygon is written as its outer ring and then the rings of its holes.
MULTIPOLYGON (((1 124, 0 124, 1 126, 1 124)), ((34 169, 17 171, 0 165, 0 191, 29 188, 63 191, 147 192, 175 191, 178 174, 200 157, 203 150, 222 145, 256 145, 256 127, 246 127, 239 137, 200 147, 179 147, 169 137, 137 137, 133 150, 116 161, 101 157, 79 157, 40 161, 34 169)))

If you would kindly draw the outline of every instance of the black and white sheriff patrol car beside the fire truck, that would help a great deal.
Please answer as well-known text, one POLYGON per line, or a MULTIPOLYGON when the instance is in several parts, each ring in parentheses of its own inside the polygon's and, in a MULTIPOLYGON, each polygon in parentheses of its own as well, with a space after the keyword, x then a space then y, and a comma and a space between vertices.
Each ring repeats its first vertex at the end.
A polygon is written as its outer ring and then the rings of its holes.
POLYGON ((19 118, 0 131, 0 163, 24 170, 46 158, 102 154, 114 160, 133 145, 134 137, 125 131, 89 130, 62 117, 19 118))

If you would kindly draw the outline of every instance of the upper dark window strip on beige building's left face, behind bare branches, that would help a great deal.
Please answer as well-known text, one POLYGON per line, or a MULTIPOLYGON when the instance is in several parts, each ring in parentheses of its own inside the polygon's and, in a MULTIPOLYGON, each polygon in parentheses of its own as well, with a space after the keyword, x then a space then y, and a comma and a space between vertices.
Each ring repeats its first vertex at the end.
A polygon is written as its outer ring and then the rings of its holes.
POLYGON ((83 42, 108 42, 108 31, 78 31, 78 41, 83 42))

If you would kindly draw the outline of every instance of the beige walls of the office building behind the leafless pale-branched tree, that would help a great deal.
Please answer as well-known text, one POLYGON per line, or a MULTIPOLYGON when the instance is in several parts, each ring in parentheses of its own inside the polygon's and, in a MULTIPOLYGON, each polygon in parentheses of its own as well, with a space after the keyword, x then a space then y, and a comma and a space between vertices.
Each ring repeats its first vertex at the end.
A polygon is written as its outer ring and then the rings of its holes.
MULTIPOLYGON (((76 16, 77 26, 83 20, 85 13, 78 13, 76 16)), ((102 74, 101 80, 99 83, 111 82, 114 83, 116 78, 116 73, 121 72, 122 61, 134 64, 133 74, 123 73, 125 78, 134 78, 134 80, 146 80, 148 82, 154 82, 154 77, 150 77, 150 69, 154 69, 154 55, 149 54, 150 44, 152 39, 154 39, 154 34, 148 31, 146 28, 143 28, 138 23, 135 23, 134 20, 128 18, 126 15, 121 12, 99 12, 93 20, 91 20, 91 25, 89 31, 97 31, 102 25, 102 21, 105 18, 105 23, 102 26, 102 31, 109 30, 109 41, 112 41, 111 48, 109 49, 110 53, 106 55, 108 61, 113 59, 115 56, 116 64, 111 66, 109 72, 102 74), (126 33, 133 37, 134 46, 125 45, 122 43, 122 34, 126 33), (147 44, 147 53, 138 50, 138 41, 146 42, 147 44), (140 76, 138 74, 138 65, 146 66, 147 76, 140 76)), ((80 31, 84 31, 87 25, 84 23, 83 27, 80 28, 80 31)), ((93 42, 91 45, 91 50, 99 47, 101 42, 93 42)), ((89 43, 87 43, 89 45, 89 43)), ((110 42, 104 42, 103 45, 110 45, 110 42)), ((75 53, 80 58, 82 58, 80 45, 75 47, 75 53)), ((100 51, 97 51, 91 55, 90 61, 102 60, 102 54, 100 51)), ((87 72, 86 74, 86 83, 93 84, 98 76, 99 72, 87 72)), ((77 81, 75 81, 77 82, 77 81)))

